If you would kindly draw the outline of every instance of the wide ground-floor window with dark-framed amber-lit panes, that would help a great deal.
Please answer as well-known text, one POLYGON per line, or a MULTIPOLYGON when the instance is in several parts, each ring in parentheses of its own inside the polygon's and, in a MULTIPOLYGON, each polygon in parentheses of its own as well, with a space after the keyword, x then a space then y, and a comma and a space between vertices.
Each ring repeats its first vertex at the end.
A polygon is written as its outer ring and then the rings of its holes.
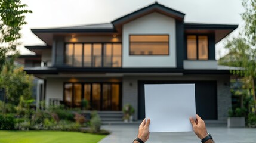
POLYGON ((64 103, 81 108, 82 99, 90 103, 90 110, 121 110, 120 83, 64 83, 64 103))

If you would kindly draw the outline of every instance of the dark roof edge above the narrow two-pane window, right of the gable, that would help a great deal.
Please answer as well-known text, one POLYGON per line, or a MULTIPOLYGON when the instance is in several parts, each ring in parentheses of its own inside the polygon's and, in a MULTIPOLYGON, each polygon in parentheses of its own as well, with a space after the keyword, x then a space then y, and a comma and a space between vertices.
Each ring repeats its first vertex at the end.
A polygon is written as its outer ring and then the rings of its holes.
POLYGON ((185 29, 233 29, 238 28, 238 25, 228 24, 201 24, 201 23, 184 23, 185 29))

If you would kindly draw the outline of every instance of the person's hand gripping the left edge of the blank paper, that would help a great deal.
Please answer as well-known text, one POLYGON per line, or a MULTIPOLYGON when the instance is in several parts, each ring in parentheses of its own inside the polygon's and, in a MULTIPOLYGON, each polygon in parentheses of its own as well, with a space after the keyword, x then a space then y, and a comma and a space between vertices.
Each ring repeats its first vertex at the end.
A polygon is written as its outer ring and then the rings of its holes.
MULTIPOLYGON (((137 138, 141 139, 141 141, 143 142, 146 142, 147 139, 149 139, 149 124, 150 124, 150 119, 147 119, 147 123, 146 123, 146 119, 144 119, 143 122, 141 122, 140 126, 138 127, 137 138)), ((134 140, 134 143, 140 143, 140 142, 134 140)))

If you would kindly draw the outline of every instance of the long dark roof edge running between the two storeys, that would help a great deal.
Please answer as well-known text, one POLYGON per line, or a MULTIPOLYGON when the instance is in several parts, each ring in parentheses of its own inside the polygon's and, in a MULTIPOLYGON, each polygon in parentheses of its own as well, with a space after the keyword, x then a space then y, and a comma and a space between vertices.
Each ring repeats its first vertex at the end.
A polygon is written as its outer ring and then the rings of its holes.
POLYGON ((229 70, 184 70, 172 68, 76 68, 76 67, 44 67, 25 68, 28 74, 58 73, 183 73, 183 74, 230 74, 229 70))

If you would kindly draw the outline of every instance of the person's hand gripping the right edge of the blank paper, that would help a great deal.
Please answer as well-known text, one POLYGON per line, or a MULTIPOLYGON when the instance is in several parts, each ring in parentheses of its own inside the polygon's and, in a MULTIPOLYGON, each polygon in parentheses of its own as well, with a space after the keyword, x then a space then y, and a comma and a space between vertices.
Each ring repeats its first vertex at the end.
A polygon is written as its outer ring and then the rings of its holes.
MULTIPOLYGON (((203 138, 208 136, 205 122, 201 119, 201 117, 196 115, 196 121, 192 117, 190 117, 189 119, 193 126, 193 130, 194 130, 195 134, 198 136, 198 138, 200 138, 202 140, 203 138)), ((215 142, 212 139, 209 139, 205 143, 215 143, 215 142)))

